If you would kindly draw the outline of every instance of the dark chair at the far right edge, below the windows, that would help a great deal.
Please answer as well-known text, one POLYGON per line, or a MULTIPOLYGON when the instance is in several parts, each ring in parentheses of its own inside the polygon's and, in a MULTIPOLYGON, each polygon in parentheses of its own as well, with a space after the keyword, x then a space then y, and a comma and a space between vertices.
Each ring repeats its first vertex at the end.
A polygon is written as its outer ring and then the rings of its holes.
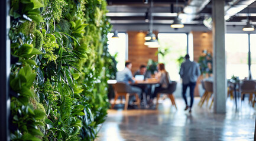
POLYGON ((253 94, 256 95, 256 82, 254 80, 242 80, 242 83, 240 85, 240 92, 241 92, 241 98, 245 94, 249 94, 249 103, 252 103, 252 106, 254 106, 255 100, 252 100, 253 94), (253 102, 252 102, 253 101, 253 102))

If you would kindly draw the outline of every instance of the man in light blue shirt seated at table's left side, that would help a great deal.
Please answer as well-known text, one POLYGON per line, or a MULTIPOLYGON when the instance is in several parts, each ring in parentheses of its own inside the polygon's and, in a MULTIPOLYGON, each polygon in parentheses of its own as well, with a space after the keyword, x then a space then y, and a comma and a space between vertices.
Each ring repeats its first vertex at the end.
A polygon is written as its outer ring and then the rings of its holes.
MULTIPOLYGON (((116 73, 116 81, 124 82, 129 85, 129 83, 135 83, 134 77, 132 77, 132 63, 130 61, 125 62, 125 68, 122 71, 116 73)), ((134 93, 138 93, 139 98, 141 98, 141 89, 135 86, 131 86, 131 90, 134 93)), ((129 98, 129 105, 135 100, 135 97, 129 98)))

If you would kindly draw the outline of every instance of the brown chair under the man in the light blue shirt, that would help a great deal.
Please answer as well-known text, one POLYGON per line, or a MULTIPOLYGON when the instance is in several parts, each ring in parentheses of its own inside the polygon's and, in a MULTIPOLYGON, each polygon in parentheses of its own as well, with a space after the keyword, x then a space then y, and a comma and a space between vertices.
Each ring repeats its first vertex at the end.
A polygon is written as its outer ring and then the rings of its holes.
POLYGON ((121 99, 122 99, 122 96, 125 96, 124 109, 127 110, 128 102, 129 102, 129 96, 132 96, 132 95, 135 96, 135 98, 137 100, 138 108, 140 108, 140 98, 139 98, 137 93, 132 93, 131 86, 127 85, 126 83, 116 82, 115 84, 113 84, 113 88, 114 88, 114 91, 115 91, 115 100, 114 100, 114 103, 112 104, 111 108, 114 108, 116 99, 118 99, 119 96, 121 96, 121 99))

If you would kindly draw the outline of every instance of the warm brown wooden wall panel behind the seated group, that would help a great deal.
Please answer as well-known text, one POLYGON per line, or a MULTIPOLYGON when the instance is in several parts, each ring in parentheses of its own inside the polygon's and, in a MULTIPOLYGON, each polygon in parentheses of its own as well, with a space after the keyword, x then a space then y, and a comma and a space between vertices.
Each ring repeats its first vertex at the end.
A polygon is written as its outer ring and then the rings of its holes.
POLYGON ((140 68, 141 64, 147 65, 148 59, 158 61, 158 57, 155 56, 157 48, 148 48, 144 45, 146 32, 128 31, 127 33, 128 59, 132 62, 132 74, 140 68))

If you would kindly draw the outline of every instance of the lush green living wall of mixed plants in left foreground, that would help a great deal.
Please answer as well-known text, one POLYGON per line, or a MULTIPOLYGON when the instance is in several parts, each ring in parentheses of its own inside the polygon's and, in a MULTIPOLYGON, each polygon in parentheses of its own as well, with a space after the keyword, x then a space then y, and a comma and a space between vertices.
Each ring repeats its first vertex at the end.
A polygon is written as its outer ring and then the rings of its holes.
POLYGON ((105 0, 11 0, 11 140, 94 140, 115 74, 105 0))

